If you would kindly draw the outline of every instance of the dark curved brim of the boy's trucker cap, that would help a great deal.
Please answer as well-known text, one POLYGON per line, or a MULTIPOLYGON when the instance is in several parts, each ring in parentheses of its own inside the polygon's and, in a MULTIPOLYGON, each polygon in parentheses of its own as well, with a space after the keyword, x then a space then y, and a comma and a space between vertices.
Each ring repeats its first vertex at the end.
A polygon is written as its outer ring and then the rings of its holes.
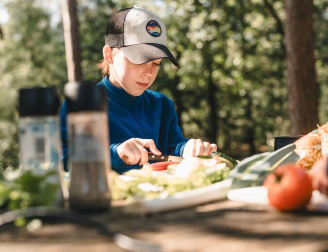
POLYGON ((179 66, 169 49, 161 44, 138 44, 120 47, 120 49, 133 64, 143 64, 161 58, 168 58, 175 66, 179 66))

